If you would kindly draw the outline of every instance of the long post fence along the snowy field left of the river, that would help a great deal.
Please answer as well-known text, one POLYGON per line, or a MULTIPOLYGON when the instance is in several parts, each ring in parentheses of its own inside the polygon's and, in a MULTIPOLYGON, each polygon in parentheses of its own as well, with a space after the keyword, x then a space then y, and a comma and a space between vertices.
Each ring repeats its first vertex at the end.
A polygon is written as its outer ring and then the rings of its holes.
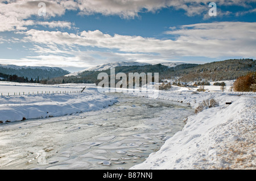
POLYGON ((82 91, 29 91, 29 92, 7 92, 6 94, 1 93, 1 96, 11 95, 36 95, 36 94, 75 94, 81 93, 82 91))

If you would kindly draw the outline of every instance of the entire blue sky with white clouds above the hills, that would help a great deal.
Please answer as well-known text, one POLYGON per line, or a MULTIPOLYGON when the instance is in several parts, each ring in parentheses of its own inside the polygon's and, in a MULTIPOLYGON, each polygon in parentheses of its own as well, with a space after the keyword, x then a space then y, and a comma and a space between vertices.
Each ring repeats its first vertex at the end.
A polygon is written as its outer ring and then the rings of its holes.
POLYGON ((0 0, 0 23, 0 64, 256 59, 256 0, 0 0))

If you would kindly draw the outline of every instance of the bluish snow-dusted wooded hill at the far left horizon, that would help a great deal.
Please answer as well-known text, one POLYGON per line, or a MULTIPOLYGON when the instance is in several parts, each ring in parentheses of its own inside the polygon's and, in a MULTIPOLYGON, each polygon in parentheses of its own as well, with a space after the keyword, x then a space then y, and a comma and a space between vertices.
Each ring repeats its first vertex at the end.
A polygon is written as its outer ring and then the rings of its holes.
POLYGON ((47 66, 16 66, 0 64, 0 73, 7 75, 17 75, 28 79, 50 79, 69 74, 67 70, 61 68, 50 68, 47 66))

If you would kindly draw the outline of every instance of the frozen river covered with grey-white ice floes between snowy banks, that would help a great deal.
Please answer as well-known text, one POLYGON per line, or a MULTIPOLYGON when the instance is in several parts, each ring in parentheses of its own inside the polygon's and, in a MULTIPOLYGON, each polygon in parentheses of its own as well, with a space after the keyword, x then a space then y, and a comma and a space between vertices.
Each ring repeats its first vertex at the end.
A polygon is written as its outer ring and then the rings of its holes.
POLYGON ((0 169, 129 169, 184 127, 186 104, 125 94, 100 111, 0 125, 0 169))

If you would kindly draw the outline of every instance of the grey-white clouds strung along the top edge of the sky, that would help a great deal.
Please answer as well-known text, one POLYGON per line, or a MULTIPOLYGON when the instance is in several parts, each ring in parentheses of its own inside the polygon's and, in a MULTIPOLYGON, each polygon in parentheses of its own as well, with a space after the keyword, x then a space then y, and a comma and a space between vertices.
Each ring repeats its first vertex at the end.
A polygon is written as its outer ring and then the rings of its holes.
MULTIPOLYGON (((39 17, 39 19, 44 19, 44 23, 39 20, 39 24, 44 24, 50 28, 61 26, 71 28, 71 23, 68 22, 51 22, 48 24, 46 22, 50 17, 64 15, 67 10, 78 10, 80 15, 100 13, 102 15, 118 15, 122 18, 135 18, 142 12, 155 12, 172 7, 176 10, 184 10, 188 16, 203 15, 204 19, 209 18, 207 16, 209 2, 206 0, 8 0, 0 2, 0 32, 26 31, 27 26, 38 24, 38 20, 34 22, 30 18, 38 16, 38 12, 41 9, 38 5, 41 2, 46 4, 46 16, 39 17)), ((255 0, 216 0, 214 2, 217 3, 217 8, 219 6, 232 5, 249 8, 245 12, 237 12, 237 15, 255 12, 255 9, 248 5, 250 2, 256 2, 255 0)), ((231 14, 231 12, 222 12, 218 9, 219 16, 227 14, 231 14)))

